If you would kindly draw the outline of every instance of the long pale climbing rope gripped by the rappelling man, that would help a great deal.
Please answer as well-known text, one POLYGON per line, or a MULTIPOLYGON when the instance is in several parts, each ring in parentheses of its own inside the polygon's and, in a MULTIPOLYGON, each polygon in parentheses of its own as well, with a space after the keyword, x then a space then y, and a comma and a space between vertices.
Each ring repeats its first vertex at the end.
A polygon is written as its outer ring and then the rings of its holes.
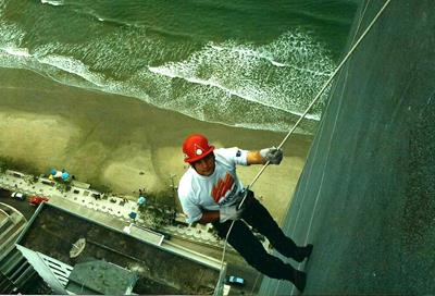
MULTIPOLYGON (((287 133, 287 135, 284 137, 284 139, 281 141, 281 144, 278 145, 277 149, 281 149, 284 144, 287 141, 287 139, 289 138, 289 136, 295 132, 296 127, 298 127, 298 125, 300 124, 300 122, 304 119, 304 116, 307 116, 308 112, 311 110, 311 108, 318 102, 318 100, 320 99, 320 97, 322 96, 322 94, 325 91, 326 87, 331 84, 331 82, 335 78, 335 76, 338 74, 338 72, 341 70, 343 65, 349 60, 350 55, 353 53, 353 51, 358 48, 358 46, 360 45, 360 42, 362 41, 362 39, 364 39, 365 35, 370 32, 370 29, 373 27, 373 25, 376 23, 377 18, 380 18, 381 14, 384 12, 384 10, 388 7, 389 2, 391 0, 387 0, 384 5, 381 8, 381 10, 377 12, 377 14, 373 17, 372 22, 369 24, 369 26, 365 28, 365 30, 361 34, 360 38, 358 38, 357 42, 350 48, 349 52, 345 55, 345 58, 341 60, 341 62, 338 64, 338 66, 336 67, 336 70, 333 72, 333 74, 330 76, 330 78, 326 81, 326 83, 323 85, 323 87, 320 89, 320 91, 318 92, 318 95, 314 97, 314 99, 312 100, 312 102, 308 106, 307 110, 300 115, 299 120, 295 123, 295 125, 291 127, 291 130, 287 133)), ((249 188, 251 188, 253 186, 253 184, 259 180, 259 177, 261 176, 261 174, 264 172, 264 170, 269 166, 270 161, 268 161, 266 163, 263 164, 263 166, 261 168, 261 170, 257 173, 257 175, 254 176, 254 178, 252 180, 252 182, 246 187, 246 192, 248 192, 249 188)), ((241 199, 239 207, 241 207, 241 205, 245 202, 246 196, 244 196, 244 198, 241 199)), ((223 271, 223 266, 224 266, 224 259, 225 259, 225 252, 226 252, 226 245, 228 242, 228 237, 229 234, 233 230, 233 225, 234 225, 234 220, 228 229, 228 232, 225 236, 225 244, 223 247, 223 251, 222 251, 222 260, 221 260, 221 272, 223 271)))

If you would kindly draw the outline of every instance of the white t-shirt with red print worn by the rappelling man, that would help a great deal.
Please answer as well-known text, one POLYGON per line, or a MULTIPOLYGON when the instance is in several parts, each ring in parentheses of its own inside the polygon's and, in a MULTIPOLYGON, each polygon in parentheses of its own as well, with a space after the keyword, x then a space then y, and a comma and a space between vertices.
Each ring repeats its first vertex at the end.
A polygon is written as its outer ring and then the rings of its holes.
POLYGON ((187 222, 192 223, 202 217, 202 210, 217 211, 220 206, 233 205, 240 197, 244 185, 236 174, 236 164, 247 164, 248 151, 234 148, 214 150, 215 169, 209 176, 189 168, 178 185, 178 198, 187 222))

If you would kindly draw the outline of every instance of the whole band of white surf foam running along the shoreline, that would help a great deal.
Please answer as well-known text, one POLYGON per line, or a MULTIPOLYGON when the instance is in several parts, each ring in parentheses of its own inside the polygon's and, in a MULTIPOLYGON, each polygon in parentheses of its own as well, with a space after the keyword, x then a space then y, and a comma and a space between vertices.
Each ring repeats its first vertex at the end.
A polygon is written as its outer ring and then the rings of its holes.
MULTIPOLYGON (((122 40, 140 40, 138 48, 142 52, 136 55, 151 61, 162 60, 158 50, 161 45, 138 38, 136 32, 127 34, 134 36, 119 34, 76 48, 48 44, 33 49, 30 54, 16 46, 22 35, 15 30, 7 37, 0 36, 0 41, 5 41, 0 42, 3 45, 0 55, 4 53, 0 63, 5 61, 3 64, 10 66, 13 57, 17 66, 25 64, 63 84, 136 97, 203 121, 272 131, 285 131, 290 126, 289 118, 295 116, 289 113, 300 115, 303 112, 333 66, 309 41, 304 45, 307 49, 298 49, 289 38, 294 37, 291 34, 265 46, 235 41, 209 44, 184 61, 147 66, 147 61, 120 55, 124 46, 128 47, 122 40), (63 55, 55 52, 63 52, 63 55), (92 64, 85 64, 78 57, 88 57, 87 62, 92 64), (133 66, 142 70, 132 71, 133 66), (108 70, 114 75, 98 73, 108 70), (120 72, 123 74, 117 79, 120 72), (179 84, 174 83, 174 78, 185 82, 182 89, 176 88, 179 84)), ((297 38, 307 37, 298 35, 297 38)), ((319 110, 307 118, 319 120, 319 110)))

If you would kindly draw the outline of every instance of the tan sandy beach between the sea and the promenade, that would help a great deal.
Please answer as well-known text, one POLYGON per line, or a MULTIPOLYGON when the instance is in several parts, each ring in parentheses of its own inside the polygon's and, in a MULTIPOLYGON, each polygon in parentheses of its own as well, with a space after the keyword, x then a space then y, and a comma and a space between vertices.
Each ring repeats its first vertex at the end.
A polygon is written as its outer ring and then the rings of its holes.
MULTIPOLYGON (((216 147, 261 149, 284 133, 204 123, 138 99, 64 86, 23 70, 0 71, 0 156, 47 173, 66 169, 77 180, 114 193, 165 190, 186 165, 181 145, 202 133, 216 147)), ((282 165, 271 165, 253 190, 281 222, 306 161, 311 137, 294 135, 282 165)), ((240 168, 249 184, 260 166, 240 168)))

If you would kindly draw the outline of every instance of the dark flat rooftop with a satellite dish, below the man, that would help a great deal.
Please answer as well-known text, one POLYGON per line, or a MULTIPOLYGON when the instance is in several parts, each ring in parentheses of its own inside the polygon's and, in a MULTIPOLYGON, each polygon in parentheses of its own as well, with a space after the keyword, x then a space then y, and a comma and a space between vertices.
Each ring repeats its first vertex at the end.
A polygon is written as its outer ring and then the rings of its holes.
POLYGON ((96 259, 134 271, 138 281, 133 293, 137 294, 213 294, 220 275, 219 269, 49 202, 37 209, 17 244, 72 267, 96 259), (79 238, 86 239, 86 247, 71 258, 73 243, 79 238))

